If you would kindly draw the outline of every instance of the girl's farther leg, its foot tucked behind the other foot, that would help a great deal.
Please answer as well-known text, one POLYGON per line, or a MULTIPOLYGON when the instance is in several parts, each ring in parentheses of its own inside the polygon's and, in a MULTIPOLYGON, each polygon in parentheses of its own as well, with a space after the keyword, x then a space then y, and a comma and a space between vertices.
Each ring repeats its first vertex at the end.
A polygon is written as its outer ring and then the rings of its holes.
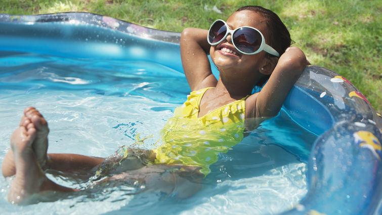
MULTIPOLYGON (((27 107, 24 110, 24 115, 21 118, 20 126, 26 126, 32 123, 36 130, 36 137, 32 142, 32 149, 36 156, 37 162, 42 169, 50 169, 56 170, 52 171, 52 174, 56 173, 64 173, 65 175, 69 175, 70 177, 80 178, 80 179, 88 179, 89 177, 94 175, 94 171, 98 170, 97 167, 105 158, 100 157, 90 157, 78 154, 48 154, 48 134, 49 128, 48 123, 35 108, 27 107), (58 172, 59 171, 59 172, 58 172)), ((139 149, 129 149, 129 155, 133 153, 133 155, 138 155, 140 158, 144 158, 144 160, 153 161, 155 159, 155 155, 152 153, 150 157, 147 157, 145 153, 148 153, 146 150, 139 149), (146 159, 147 158, 147 159, 146 159)), ((118 157, 115 157, 118 158, 118 157)), ((141 159, 132 159, 134 157, 129 157, 128 159, 123 160, 123 165, 118 165, 122 167, 119 169, 123 170, 131 170, 142 167, 141 159)), ((112 163, 113 160, 120 161, 119 159, 109 159, 107 163, 112 163)), ((2 173, 4 177, 10 177, 16 174, 16 165, 14 160, 14 155, 12 149, 6 154, 3 164, 2 164, 2 173)), ((61 174, 60 173, 60 174, 61 174)))

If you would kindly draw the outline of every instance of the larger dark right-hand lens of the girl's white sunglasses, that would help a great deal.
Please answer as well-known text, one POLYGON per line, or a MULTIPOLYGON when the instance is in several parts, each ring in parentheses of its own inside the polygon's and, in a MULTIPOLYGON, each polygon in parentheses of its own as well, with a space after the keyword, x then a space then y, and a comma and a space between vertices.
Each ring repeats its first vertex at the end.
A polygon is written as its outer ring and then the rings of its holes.
POLYGON ((253 53, 259 50, 262 37, 258 31, 244 27, 233 33, 233 42, 238 50, 253 53))

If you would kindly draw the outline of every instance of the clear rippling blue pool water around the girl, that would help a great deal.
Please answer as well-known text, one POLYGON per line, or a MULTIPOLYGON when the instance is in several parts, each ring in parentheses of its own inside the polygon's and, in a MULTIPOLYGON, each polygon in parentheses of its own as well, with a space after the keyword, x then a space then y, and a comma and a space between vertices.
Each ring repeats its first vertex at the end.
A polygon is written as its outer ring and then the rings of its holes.
MULTIPOLYGON (((189 94, 184 74, 152 62, 71 59, 0 52, 0 162, 22 111, 48 120, 52 153, 107 157, 135 138, 151 149, 189 94)), ((281 111, 210 166, 203 189, 188 199, 129 195, 116 187, 28 206, 8 203, 12 178, 0 178, 2 214, 277 214, 307 193, 307 158, 316 136, 281 111)), ((81 187, 62 177, 59 184, 81 187)))

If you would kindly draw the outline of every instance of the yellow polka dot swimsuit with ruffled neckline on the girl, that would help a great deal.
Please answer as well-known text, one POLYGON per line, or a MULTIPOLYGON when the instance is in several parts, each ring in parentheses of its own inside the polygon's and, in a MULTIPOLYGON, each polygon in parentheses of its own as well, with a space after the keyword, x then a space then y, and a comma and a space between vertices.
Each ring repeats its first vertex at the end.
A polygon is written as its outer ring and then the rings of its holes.
POLYGON ((227 153, 241 141, 248 96, 198 117, 200 100, 208 89, 191 92, 187 101, 175 109, 175 116, 161 131, 163 144, 154 149, 154 163, 200 166, 206 176, 218 154, 227 153))

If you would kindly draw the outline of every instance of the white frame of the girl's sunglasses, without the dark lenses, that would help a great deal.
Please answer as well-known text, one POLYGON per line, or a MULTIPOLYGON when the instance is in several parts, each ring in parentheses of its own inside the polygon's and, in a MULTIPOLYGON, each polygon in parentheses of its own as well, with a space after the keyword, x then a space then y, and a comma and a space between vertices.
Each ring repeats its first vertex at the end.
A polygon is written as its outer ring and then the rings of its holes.
POLYGON ((235 43, 233 42, 233 39, 232 39, 232 44, 233 44, 233 46, 235 47, 235 49, 236 49, 237 51, 239 51, 240 53, 242 53, 242 54, 244 54, 244 55, 254 55, 254 54, 257 54, 257 53, 259 53, 259 52, 261 52, 261 51, 264 50, 265 52, 267 52, 267 53, 269 53, 269 54, 271 54, 271 55, 274 55, 274 56, 276 56, 276 57, 280 57, 280 54, 279 54, 275 49, 273 49, 271 46, 269 46, 269 45, 267 45, 267 44, 265 43, 264 35, 263 35, 258 29, 253 28, 253 27, 249 27, 249 26, 241 26, 241 27, 236 28, 235 30, 231 30, 231 29, 228 27, 228 24, 227 24, 224 20, 221 20, 221 19, 216 20, 216 21, 213 22, 213 23, 211 24, 211 26, 209 27, 209 29, 208 29, 208 34, 207 34, 207 42, 208 42, 208 44, 211 45, 211 46, 220 44, 220 42, 222 42, 223 40, 225 40, 225 39, 227 38, 227 36, 228 36, 229 33, 230 33, 231 36, 232 36, 233 33, 235 33, 235 31, 237 31, 237 30, 240 29, 240 28, 251 28, 251 29, 253 29, 253 30, 256 30, 257 32, 260 33, 260 35, 261 35, 261 39, 262 39, 262 40, 261 40, 261 45, 260 45, 259 49, 258 49, 256 52, 253 52, 253 53, 245 53, 245 52, 240 51, 240 50, 236 47, 236 45, 235 45, 235 43), (217 42, 214 42, 214 43, 211 43, 211 42, 209 42, 209 39, 208 39, 208 38, 209 38, 209 31, 211 30, 211 27, 214 26, 214 24, 215 24, 216 22, 218 22, 218 21, 223 22, 224 25, 226 26, 226 28, 227 28, 226 35, 224 35, 223 38, 222 38, 221 40, 219 40, 219 41, 217 41, 217 42))

